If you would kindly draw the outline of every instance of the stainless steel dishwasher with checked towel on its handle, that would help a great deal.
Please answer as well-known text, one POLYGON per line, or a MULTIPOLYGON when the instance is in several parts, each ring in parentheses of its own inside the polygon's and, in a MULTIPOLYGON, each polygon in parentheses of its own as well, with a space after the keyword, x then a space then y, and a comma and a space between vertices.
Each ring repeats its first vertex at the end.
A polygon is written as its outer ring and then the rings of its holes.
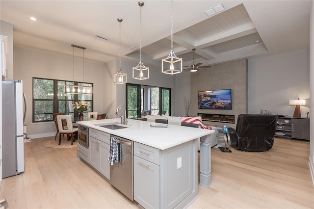
POLYGON ((133 141, 117 137, 116 142, 121 146, 121 159, 110 165, 110 183, 133 201, 133 141))

